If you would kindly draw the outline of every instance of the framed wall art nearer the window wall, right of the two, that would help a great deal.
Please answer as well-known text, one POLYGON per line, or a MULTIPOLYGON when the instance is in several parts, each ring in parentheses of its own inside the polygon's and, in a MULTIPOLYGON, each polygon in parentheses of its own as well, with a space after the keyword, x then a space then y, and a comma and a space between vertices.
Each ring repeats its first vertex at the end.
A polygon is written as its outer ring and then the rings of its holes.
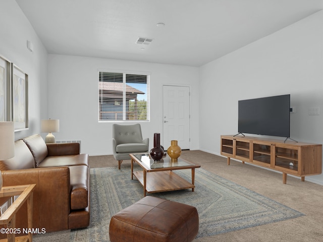
POLYGON ((28 129, 28 75, 12 64, 11 107, 15 131, 28 129))

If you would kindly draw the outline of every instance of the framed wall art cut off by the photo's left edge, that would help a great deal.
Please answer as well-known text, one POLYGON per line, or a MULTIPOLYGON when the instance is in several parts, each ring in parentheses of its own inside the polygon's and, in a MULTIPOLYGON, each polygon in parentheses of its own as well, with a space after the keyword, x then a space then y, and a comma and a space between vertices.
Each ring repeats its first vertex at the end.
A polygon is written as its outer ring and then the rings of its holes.
POLYGON ((0 122, 11 121, 11 64, 0 55, 0 122))

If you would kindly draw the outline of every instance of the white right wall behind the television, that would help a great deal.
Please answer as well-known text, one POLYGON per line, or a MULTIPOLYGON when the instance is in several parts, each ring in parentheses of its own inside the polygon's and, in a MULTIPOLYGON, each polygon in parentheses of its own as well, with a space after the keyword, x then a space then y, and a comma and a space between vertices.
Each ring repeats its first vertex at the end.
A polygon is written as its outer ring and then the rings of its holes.
MULTIPOLYGON (((320 11, 201 67, 200 149, 220 154, 220 136, 238 133, 238 100, 281 94, 296 107, 291 138, 322 144, 322 31, 320 11)), ((323 184, 323 175, 306 179, 323 184)))

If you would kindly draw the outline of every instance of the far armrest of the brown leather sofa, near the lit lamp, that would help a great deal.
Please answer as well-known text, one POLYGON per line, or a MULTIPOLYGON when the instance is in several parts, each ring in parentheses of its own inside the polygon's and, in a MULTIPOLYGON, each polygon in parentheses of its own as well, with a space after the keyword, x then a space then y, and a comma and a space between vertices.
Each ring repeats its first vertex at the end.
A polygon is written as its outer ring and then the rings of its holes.
POLYGON ((57 155, 78 155, 80 154, 79 143, 53 143, 46 144, 48 149, 48 156, 57 155))

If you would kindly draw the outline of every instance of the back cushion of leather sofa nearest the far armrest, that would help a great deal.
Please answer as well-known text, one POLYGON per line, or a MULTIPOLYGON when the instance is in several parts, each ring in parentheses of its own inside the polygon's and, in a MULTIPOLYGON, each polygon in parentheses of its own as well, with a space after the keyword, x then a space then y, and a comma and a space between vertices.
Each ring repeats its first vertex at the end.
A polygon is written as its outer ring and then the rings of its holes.
POLYGON ((40 162, 42 162, 48 154, 46 143, 40 135, 29 136, 24 138, 23 141, 26 143, 34 157, 35 166, 38 167, 40 162))

